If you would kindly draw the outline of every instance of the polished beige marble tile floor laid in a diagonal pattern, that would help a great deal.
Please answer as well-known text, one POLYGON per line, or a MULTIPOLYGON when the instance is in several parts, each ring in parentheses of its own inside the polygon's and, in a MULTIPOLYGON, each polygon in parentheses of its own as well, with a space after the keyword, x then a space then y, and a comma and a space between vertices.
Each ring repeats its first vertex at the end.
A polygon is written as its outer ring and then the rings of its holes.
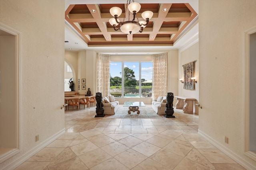
POLYGON ((198 115, 95 118, 95 109, 65 111, 66 133, 16 170, 245 170, 197 134, 198 115))

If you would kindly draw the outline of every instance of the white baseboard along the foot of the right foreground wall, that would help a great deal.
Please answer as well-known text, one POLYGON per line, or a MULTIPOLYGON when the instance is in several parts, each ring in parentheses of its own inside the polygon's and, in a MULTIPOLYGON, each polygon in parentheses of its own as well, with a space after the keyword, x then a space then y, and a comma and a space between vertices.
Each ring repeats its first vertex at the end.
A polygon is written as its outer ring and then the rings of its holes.
POLYGON ((208 142, 210 142, 212 145, 214 145, 216 148, 220 149, 222 152, 224 152, 226 155, 228 155, 230 158, 232 158, 234 161, 236 161, 238 164, 246 168, 247 170, 255 170, 256 167, 252 164, 250 164, 247 160, 240 157, 236 153, 234 153, 232 150, 228 149, 227 147, 223 146, 222 144, 218 143, 208 135, 206 135, 204 132, 198 130, 198 134, 207 139, 208 142))

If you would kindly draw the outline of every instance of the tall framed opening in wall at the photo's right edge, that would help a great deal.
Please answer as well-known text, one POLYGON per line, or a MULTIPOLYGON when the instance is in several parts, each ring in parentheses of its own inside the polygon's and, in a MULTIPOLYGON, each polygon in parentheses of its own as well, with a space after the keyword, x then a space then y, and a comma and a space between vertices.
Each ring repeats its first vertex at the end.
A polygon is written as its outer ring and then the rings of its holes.
POLYGON ((256 27, 245 33, 245 153, 256 160, 256 27))

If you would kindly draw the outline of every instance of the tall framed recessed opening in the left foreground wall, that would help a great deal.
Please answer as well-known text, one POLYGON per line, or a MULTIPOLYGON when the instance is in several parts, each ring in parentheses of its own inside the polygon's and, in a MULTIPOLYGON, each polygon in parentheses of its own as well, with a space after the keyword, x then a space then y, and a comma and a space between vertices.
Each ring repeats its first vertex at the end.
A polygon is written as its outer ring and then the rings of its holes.
POLYGON ((0 163, 20 152, 19 59, 20 33, 0 23, 0 163))

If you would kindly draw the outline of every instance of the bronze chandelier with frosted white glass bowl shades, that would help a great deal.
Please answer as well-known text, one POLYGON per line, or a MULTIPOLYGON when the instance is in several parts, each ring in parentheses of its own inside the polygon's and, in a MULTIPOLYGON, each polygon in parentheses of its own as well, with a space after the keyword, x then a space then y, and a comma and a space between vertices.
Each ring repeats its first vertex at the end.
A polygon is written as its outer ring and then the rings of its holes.
POLYGON ((118 31, 119 29, 126 34, 134 34, 138 33, 139 31, 142 32, 144 27, 148 25, 148 21, 152 18, 153 12, 152 11, 144 11, 142 12, 141 16, 146 21, 139 21, 137 17, 137 21, 135 21, 135 16, 137 16, 137 13, 140 10, 140 4, 137 2, 134 2, 132 0, 132 3, 130 3, 131 0, 127 0, 126 8, 124 12, 124 19, 122 22, 118 19, 118 17, 122 14, 122 9, 119 7, 112 7, 110 8, 110 14, 114 17, 109 20, 109 23, 113 26, 115 31, 118 31), (130 21, 130 12, 128 11, 128 21, 124 21, 126 18, 126 10, 128 10, 132 13, 133 19, 130 21), (116 28, 120 24, 119 28, 116 28))

